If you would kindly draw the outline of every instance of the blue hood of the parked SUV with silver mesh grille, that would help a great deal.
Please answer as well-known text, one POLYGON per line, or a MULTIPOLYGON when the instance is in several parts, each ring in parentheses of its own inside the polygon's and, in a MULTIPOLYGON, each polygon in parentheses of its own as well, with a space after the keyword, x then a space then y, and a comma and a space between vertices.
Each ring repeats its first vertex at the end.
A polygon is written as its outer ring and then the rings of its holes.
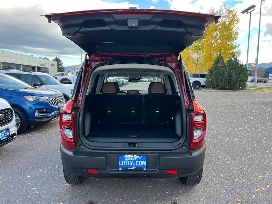
POLYGON ((59 96, 62 93, 56 90, 49 90, 45 88, 23 88, 16 91, 16 94, 21 95, 31 95, 31 96, 45 96, 45 97, 54 97, 59 96))

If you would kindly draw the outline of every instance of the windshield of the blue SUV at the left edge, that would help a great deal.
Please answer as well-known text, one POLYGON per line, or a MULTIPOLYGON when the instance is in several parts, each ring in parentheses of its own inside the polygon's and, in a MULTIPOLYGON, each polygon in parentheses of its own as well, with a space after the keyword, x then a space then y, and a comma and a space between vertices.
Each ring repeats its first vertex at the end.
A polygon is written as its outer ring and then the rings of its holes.
POLYGON ((22 88, 33 88, 33 87, 13 76, 0 74, 0 88, 18 90, 22 88))

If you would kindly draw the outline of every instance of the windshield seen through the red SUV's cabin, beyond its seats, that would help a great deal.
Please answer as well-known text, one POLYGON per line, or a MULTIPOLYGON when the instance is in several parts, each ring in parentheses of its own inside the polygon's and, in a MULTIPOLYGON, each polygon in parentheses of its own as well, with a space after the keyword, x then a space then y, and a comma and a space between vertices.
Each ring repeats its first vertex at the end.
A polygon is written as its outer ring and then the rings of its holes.
POLYGON ((127 91, 130 89, 137 89, 139 91, 147 91, 150 82, 161 82, 159 77, 142 77, 139 82, 129 83, 127 77, 109 77, 107 82, 116 81, 119 84, 121 91, 127 91))

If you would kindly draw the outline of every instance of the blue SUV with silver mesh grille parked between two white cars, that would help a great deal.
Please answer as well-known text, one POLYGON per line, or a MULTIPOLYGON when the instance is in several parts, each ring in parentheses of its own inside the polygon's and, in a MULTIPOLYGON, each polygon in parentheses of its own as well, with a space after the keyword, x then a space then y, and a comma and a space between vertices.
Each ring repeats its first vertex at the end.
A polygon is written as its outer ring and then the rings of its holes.
POLYGON ((0 98, 6 99, 14 110, 17 133, 29 126, 59 118, 65 104, 59 91, 36 88, 15 77, 0 73, 0 98))

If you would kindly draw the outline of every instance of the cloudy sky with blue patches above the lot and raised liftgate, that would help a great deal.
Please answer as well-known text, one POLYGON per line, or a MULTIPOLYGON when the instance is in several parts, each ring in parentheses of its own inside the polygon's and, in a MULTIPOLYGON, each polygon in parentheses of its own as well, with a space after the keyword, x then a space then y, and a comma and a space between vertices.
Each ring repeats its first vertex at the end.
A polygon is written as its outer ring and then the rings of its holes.
MULTIPOLYGON (((246 63, 249 14, 240 12, 256 5, 251 18, 251 37, 249 62, 254 62, 257 52, 258 25, 261 0, 91 0, 91 1, 56 1, 56 0, 13 0, 0 4, 0 49, 33 54, 36 57, 47 56, 50 59, 59 56, 65 66, 81 63, 81 50, 70 40, 61 35, 59 26, 49 24, 42 14, 92 9, 119 9, 137 7, 141 9, 172 9, 207 13, 210 8, 221 4, 230 6, 238 12, 240 18, 241 61, 246 63), (69 3, 68 3, 69 2, 69 3)), ((259 63, 272 61, 272 0, 263 1, 261 17, 261 35, 259 63)))

